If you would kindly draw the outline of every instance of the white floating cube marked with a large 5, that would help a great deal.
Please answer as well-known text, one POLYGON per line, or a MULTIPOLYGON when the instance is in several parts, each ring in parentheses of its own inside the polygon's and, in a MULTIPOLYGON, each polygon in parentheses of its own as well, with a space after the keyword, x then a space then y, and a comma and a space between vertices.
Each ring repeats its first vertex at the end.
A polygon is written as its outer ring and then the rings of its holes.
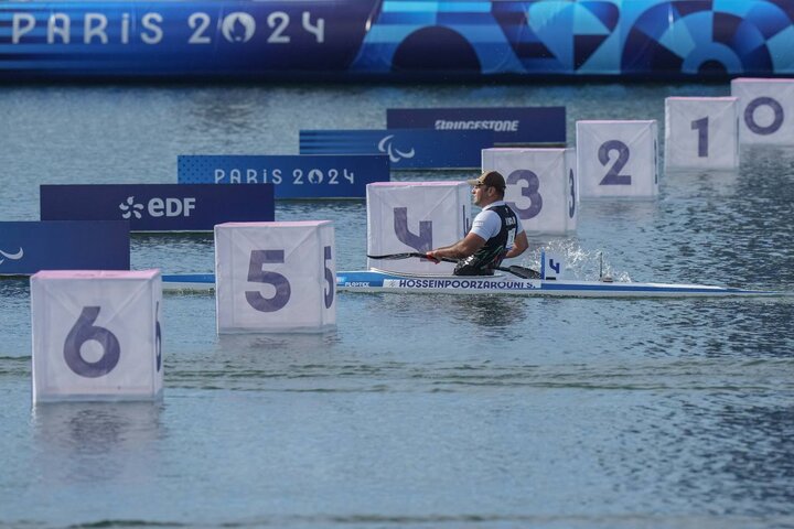
POLYGON ((217 332, 333 328, 335 262, 329 220, 215 226, 217 332))

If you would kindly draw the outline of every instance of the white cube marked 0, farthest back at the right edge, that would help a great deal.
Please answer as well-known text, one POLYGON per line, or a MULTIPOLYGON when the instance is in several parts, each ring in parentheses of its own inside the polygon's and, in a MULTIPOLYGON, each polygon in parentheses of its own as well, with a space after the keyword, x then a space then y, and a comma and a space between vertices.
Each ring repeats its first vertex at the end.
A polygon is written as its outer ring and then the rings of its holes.
POLYGON ((739 99, 739 142, 794 145, 794 79, 731 80, 739 99))

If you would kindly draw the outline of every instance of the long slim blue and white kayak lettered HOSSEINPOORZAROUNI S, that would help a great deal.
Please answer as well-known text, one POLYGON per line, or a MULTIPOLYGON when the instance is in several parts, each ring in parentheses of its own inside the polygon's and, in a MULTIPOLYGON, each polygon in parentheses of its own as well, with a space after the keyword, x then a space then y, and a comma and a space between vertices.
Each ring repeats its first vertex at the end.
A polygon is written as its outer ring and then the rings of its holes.
MULTIPOLYGON (((164 274, 165 291, 210 291, 215 288, 212 273, 164 274)), ((783 296, 786 292, 745 290, 688 283, 635 283, 604 278, 600 281, 565 279, 525 279, 507 272, 493 276, 419 276, 377 269, 336 272, 336 290, 342 292, 512 294, 568 298, 710 298, 783 296)))

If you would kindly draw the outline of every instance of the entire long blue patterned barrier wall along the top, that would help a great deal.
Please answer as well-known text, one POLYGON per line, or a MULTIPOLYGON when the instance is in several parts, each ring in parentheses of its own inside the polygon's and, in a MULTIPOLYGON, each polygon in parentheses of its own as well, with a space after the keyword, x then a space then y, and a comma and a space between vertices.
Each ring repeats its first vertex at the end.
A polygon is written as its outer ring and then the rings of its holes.
POLYGON ((783 76, 793 20, 794 0, 0 0, 0 79, 783 76))

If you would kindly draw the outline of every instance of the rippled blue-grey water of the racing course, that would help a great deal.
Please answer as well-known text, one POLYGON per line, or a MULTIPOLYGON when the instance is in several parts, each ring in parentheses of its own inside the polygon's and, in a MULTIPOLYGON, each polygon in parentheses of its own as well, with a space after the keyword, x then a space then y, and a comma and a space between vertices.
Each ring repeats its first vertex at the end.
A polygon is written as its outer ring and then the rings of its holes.
MULTIPOLYGON (((726 85, 4 86, 0 210, 42 183, 172 183, 179 154, 293 154, 300 128, 387 107, 566 105, 657 119, 726 85)), ((575 273, 794 290, 794 148, 662 175, 656 201, 582 203, 533 237, 575 273)), ((462 180, 472 172, 394 173, 462 180)), ((330 219, 365 263, 361 202, 330 219)), ((213 269, 211 235, 138 235, 132 267, 213 269)), ((794 303, 350 294, 335 332, 217 336, 212 295, 167 295, 160 403, 31 407, 30 302, 0 282, 6 527, 794 527, 794 303)))

